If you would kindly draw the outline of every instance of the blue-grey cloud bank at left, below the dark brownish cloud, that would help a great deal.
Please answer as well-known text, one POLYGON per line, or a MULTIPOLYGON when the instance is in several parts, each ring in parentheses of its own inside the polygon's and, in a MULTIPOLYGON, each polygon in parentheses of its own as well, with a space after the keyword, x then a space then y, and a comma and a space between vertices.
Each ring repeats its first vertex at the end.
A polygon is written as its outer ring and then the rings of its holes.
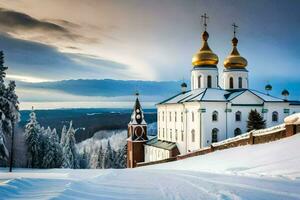
POLYGON ((127 65, 84 54, 61 53, 56 48, 0 34, 0 49, 10 74, 43 79, 107 78, 125 76, 127 65))

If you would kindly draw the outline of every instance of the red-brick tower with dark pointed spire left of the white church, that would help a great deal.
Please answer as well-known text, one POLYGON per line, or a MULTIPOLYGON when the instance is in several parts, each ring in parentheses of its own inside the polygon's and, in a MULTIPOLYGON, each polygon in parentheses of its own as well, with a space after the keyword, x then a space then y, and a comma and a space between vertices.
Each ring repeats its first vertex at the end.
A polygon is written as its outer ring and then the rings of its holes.
POLYGON ((144 144, 148 141, 147 123, 138 96, 136 93, 131 120, 128 123, 127 168, 134 168, 136 163, 144 162, 144 144))

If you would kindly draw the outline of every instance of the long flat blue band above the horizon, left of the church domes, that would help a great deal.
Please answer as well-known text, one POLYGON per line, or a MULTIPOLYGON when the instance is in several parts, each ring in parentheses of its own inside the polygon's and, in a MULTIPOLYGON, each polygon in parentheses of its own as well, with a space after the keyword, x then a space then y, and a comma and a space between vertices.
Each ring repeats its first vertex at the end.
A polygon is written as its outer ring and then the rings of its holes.
POLYGON ((145 96, 169 96, 180 92, 180 81, 133 81, 133 80, 63 80, 54 82, 17 82, 24 89, 58 90, 79 96, 128 96, 138 91, 145 96))

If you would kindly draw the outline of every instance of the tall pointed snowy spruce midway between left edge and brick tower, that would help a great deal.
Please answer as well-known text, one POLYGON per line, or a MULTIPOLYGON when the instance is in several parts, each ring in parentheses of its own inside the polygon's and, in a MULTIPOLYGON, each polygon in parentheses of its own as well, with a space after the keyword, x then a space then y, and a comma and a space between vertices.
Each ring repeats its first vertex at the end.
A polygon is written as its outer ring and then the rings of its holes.
POLYGON ((76 149, 75 140, 76 130, 72 126, 72 121, 70 122, 70 127, 65 135, 65 144, 63 148, 63 164, 64 168, 79 168, 78 153, 76 149))

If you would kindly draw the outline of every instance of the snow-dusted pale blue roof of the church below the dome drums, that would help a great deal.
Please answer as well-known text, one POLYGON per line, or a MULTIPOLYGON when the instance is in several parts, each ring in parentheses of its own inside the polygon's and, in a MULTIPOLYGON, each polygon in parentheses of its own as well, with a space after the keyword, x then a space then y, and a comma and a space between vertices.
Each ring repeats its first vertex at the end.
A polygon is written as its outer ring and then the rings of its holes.
POLYGON ((159 104, 177 104, 185 102, 231 102, 244 93, 250 93, 263 102, 289 102, 293 105, 297 105, 298 102, 300 104, 300 101, 286 101, 252 89, 224 90, 221 88, 201 88, 190 90, 185 93, 177 94, 160 102, 159 104))

